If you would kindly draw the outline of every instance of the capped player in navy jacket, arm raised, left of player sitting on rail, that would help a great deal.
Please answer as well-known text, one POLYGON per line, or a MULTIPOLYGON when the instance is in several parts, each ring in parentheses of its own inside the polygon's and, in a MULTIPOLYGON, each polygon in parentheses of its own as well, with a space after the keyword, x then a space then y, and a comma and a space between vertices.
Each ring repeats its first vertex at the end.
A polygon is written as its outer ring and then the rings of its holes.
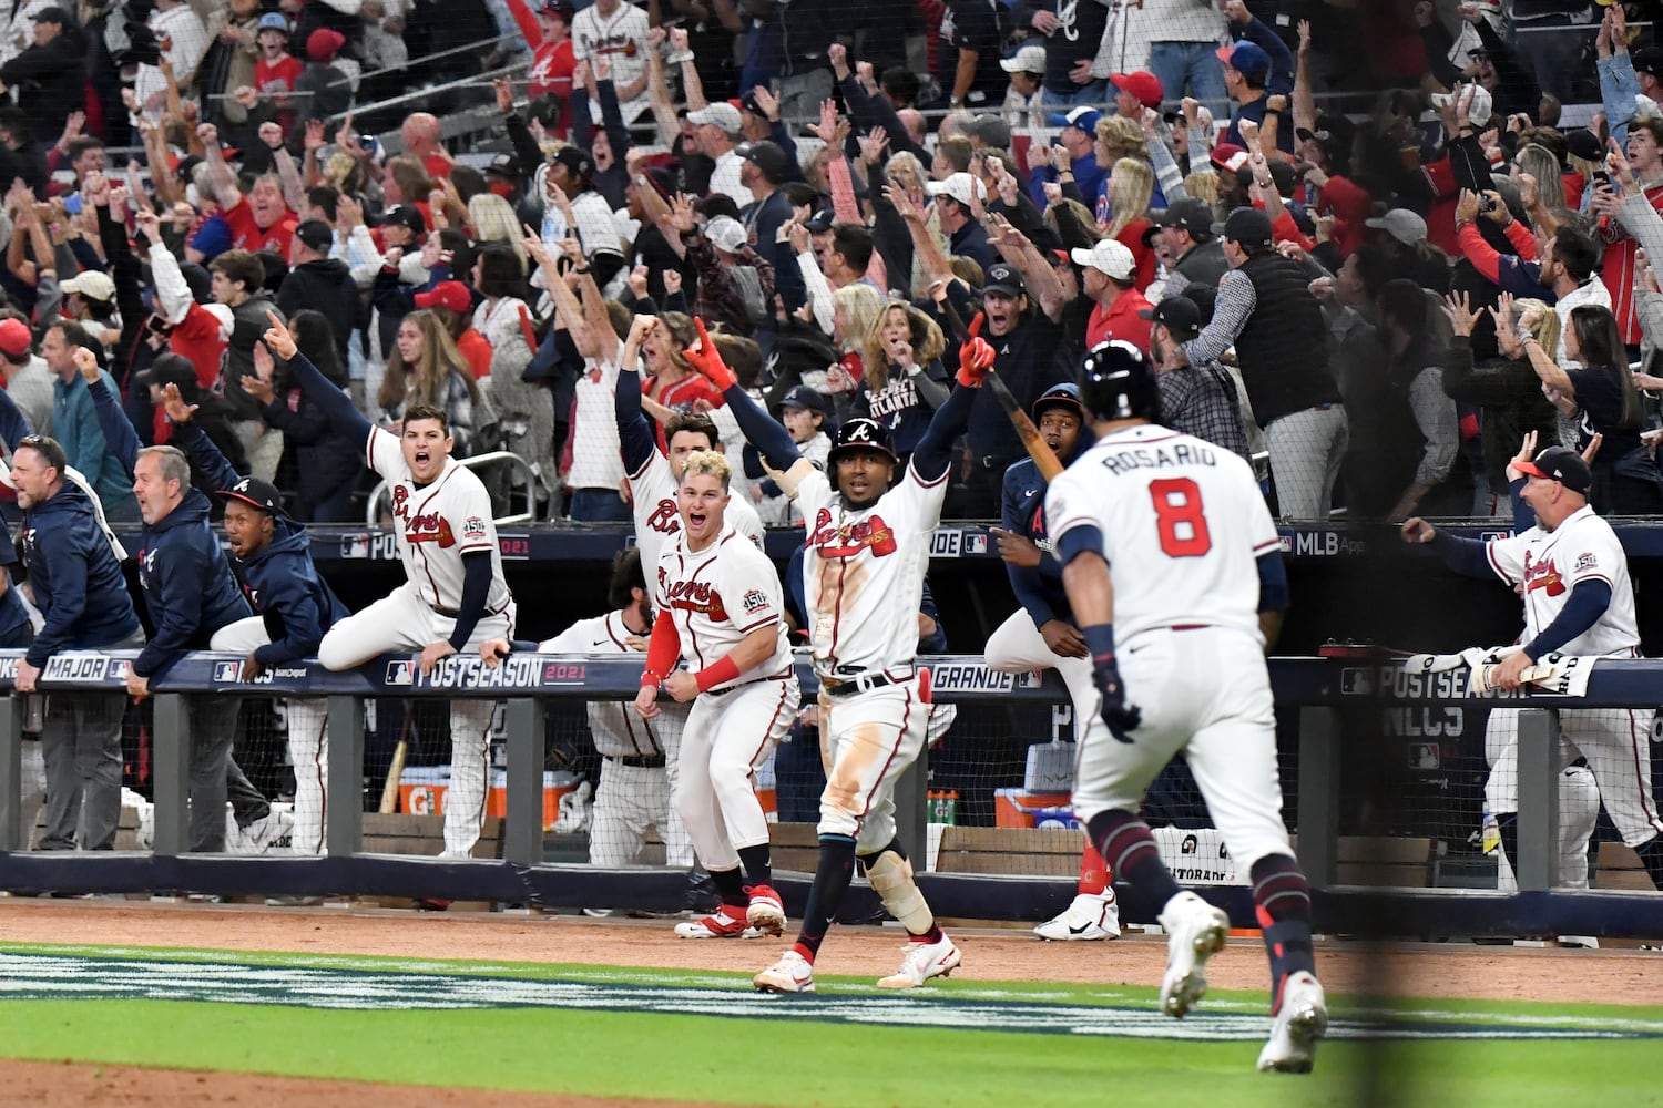
MULTIPOLYGON (((256 347, 254 364, 269 359, 256 347)), ((173 442, 225 498, 225 537, 231 547, 231 571, 258 615, 215 631, 210 650, 246 655, 243 681, 264 669, 318 653, 324 633, 348 615, 311 558, 311 538, 283 513, 283 495, 258 477, 243 477, 213 440, 191 422, 178 385, 163 392, 173 442)), ((324 782, 329 776, 329 701, 323 696, 288 698, 289 761, 294 766, 294 854, 323 854, 324 782)))

